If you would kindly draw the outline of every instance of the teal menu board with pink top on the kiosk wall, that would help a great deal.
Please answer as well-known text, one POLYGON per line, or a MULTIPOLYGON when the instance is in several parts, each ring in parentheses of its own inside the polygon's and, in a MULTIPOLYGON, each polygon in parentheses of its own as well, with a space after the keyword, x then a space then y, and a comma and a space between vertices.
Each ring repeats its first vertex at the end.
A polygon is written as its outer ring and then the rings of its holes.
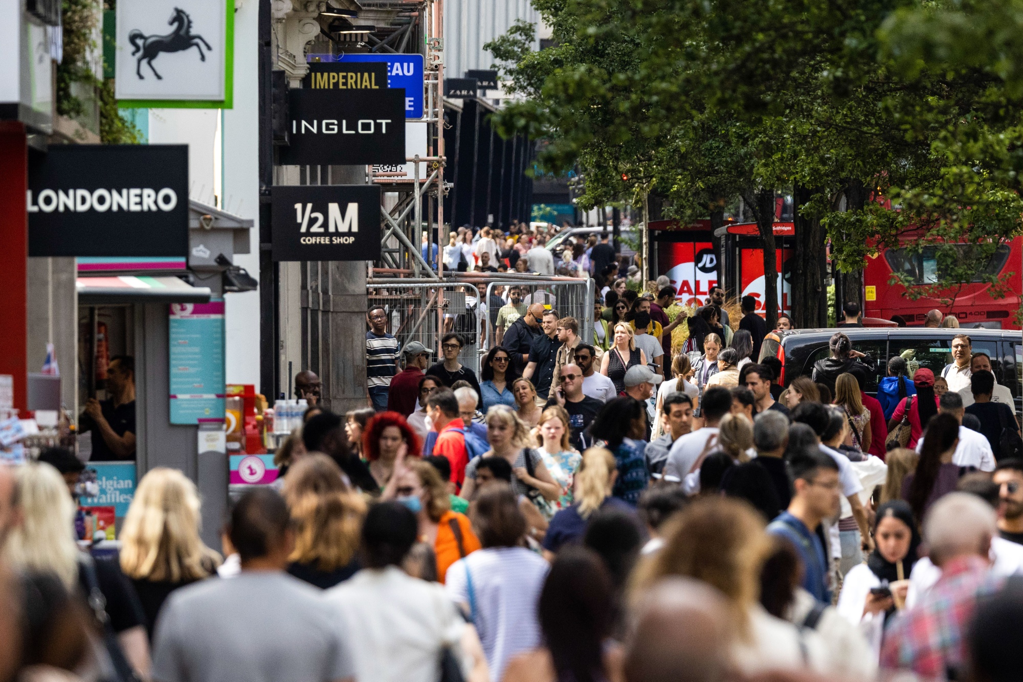
POLYGON ((171 423, 223 419, 224 302, 170 307, 171 423))

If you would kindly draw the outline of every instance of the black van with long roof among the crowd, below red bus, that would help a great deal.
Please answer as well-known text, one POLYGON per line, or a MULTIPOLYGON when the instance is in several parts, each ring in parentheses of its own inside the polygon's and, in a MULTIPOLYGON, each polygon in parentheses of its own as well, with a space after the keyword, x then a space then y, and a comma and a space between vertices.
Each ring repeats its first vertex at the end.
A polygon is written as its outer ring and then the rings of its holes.
POLYGON ((951 362, 952 336, 970 336, 974 353, 986 353, 998 383, 1016 397, 1016 411, 1023 413, 1023 334, 1002 329, 934 329, 923 327, 844 327, 841 329, 793 329, 775 331, 781 347, 765 340, 761 357, 777 349, 783 364, 783 383, 789 385, 797 376, 809 376, 813 363, 830 356, 828 342, 841 331, 849 336, 852 348, 865 353, 863 362, 873 368, 865 392, 877 396, 878 381, 888 373, 888 359, 914 351, 913 359, 935 376, 951 362))

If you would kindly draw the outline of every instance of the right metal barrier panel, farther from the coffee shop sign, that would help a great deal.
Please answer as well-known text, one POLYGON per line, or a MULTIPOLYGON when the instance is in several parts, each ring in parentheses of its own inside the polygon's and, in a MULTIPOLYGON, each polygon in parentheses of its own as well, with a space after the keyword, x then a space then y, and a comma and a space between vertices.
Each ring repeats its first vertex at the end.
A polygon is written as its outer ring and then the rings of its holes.
MULTIPOLYGON (((505 302, 508 301, 508 292, 511 287, 518 287, 522 291, 522 302, 525 305, 542 303, 558 311, 559 317, 574 317, 579 322, 579 338, 583 343, 592 345, 593 343, 593 280, 567 278, 543 279, 536 277, 523 277, 522 279, 491 281, 487 284, 487 301, 491 297, 500 297, 505 302), (501 292, 496 293, 496 288, 501 287, 501 292)), ((496 346, 498 330, 497 317, 500 308, 496 301, 493 306, 487 306, 487 319, 485 320, 487 335, 485 339, 485 350, 489 351, 496 346)), ((515 322, 513 315, 507 320, 507 325, 515 322)), ((503 320, 502 320, 503 322, 503 320)), ((507 326, 502 325, 502 326, 507 326)))

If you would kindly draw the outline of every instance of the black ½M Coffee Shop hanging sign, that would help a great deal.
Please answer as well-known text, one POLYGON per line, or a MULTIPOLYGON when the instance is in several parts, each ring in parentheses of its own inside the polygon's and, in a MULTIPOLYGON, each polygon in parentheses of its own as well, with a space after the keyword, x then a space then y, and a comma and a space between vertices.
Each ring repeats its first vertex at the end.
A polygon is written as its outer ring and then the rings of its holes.
POLYGON ((271 201, 274 261, 380 259, 380 187, 275 185, 271 201))

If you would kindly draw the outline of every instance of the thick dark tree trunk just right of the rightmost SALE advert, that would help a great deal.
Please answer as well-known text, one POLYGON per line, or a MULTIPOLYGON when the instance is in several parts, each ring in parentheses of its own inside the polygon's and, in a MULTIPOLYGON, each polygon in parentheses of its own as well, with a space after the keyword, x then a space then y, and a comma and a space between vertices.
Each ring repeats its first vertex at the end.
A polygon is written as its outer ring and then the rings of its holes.
POLYGON ((804 218, 799 214, 800 209, 820 191, 817 187, 806 187, 799 183, 793 191, 796 253, 789 270, 792 272, 792 321, 799 329, 828 326, 828 290, 825 287, 828 273, 824 230, 818 218, 804 218))

